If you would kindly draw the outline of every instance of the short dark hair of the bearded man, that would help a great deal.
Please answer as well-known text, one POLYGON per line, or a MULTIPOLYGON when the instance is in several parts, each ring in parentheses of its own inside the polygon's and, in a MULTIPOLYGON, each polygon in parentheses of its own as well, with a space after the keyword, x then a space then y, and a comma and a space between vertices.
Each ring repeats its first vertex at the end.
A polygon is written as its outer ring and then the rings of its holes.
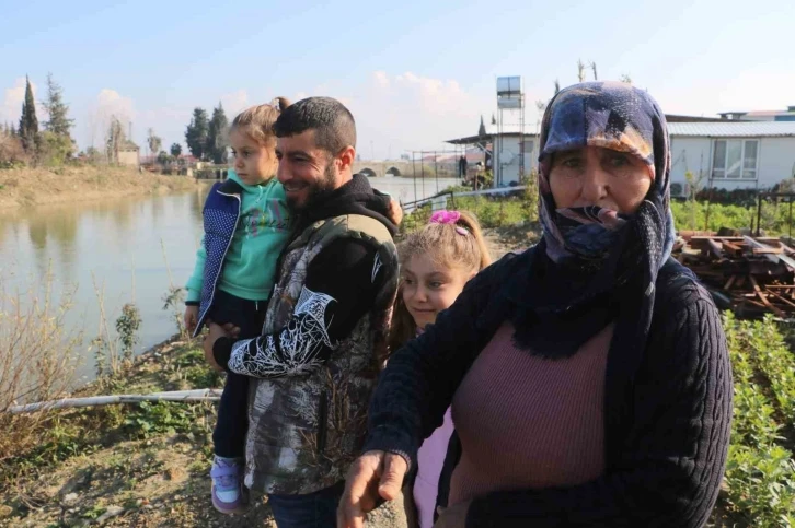
POLYGON ((274 124, 277 138, 314 130, 315 144, 336 155, 346 146, 356 148, 356 122, 345 105, 331 97, 308 97, 281 112, 274 124))

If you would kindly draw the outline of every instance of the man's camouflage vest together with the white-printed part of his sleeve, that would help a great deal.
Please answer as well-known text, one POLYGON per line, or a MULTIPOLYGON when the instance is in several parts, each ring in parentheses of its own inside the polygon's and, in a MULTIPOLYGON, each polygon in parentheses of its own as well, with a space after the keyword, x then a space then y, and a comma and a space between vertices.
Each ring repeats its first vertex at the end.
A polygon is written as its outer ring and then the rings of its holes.
POLYGON ((231 372, 252 376, 246 486, 306 494, 345 478, 364 442, 396 275, 390 232, 365 215, 315 222, 287 246, 263 337, 235 343, 228 363, 231 372), (334 342, 326 331, 325 310, 335 300, 309 290, 306 280, 312 260, 342 237, 375 248, 366 270, 368 283, 370 273, 373 284, 379 272, 384 275, 373 286, 369 312, 334 342))

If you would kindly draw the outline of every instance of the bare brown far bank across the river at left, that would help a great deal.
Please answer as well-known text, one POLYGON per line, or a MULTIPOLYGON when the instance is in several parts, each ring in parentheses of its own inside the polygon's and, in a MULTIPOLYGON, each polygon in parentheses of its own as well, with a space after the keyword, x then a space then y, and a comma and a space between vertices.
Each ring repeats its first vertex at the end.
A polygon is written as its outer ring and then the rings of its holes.
POLYGON ((129 167, 65 166, 0 169, 0 209, 187 190, 186 176, 139 173, 129 167))

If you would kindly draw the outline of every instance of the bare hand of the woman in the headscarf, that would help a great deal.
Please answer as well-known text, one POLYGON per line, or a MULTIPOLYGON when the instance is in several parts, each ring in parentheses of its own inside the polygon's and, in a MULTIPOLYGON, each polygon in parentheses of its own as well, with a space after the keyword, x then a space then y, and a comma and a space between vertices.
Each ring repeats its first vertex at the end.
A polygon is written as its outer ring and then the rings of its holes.
POLYGON ((367 451, 357 458, 337 508, 337 528, 362 528, 365 514, 375 509, 379 495, 387 501, 398 497, 407 469, 405 459, 391 453, 367 451))

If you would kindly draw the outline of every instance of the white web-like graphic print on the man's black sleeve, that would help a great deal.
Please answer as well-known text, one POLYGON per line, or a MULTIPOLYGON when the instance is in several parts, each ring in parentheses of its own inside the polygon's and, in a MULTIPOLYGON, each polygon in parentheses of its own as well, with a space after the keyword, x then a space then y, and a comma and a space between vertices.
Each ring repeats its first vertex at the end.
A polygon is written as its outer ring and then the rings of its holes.
POLYGON ((232 347, 229 369, 254 377, 297 376, 316 369, 323 364, 321 350, 335 348, 325 325, 331 302, 336 300, 304 286, 290 322, 278 336, 278 347, 274 336, 239 341, 232 347))

